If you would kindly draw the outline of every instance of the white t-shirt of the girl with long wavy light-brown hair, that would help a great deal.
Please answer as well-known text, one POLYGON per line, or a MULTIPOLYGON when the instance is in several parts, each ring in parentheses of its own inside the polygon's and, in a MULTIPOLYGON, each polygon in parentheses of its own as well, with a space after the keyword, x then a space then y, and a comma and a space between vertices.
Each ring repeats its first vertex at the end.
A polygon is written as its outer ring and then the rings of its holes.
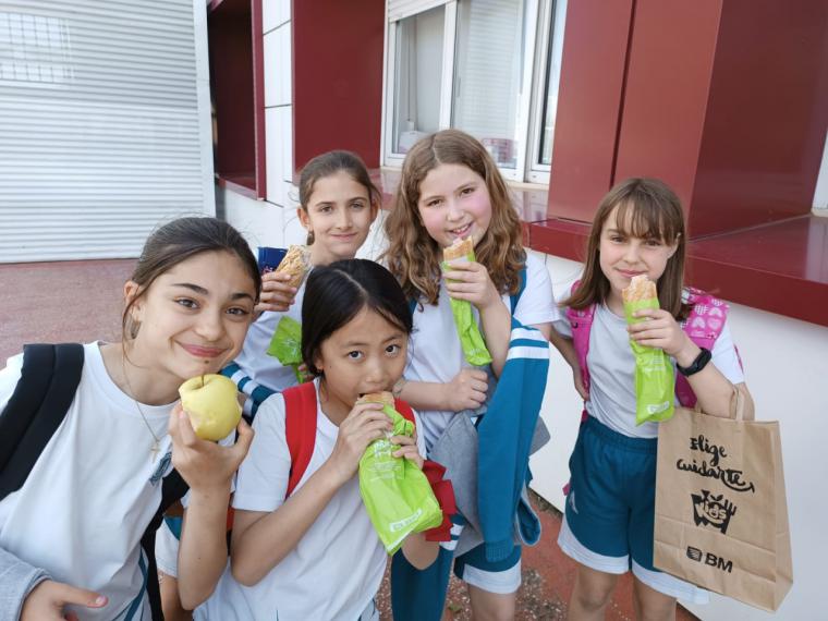
MULTIPOLYGON (((503 295, 503 304, 510 308, 509 295, 503 295)), ((479 322, 477 309, 472 306, 472 310, 479 322)), ((514 317, 524 326, 549 324, 560 318, 549 272, 543 261, 533 255, 526 257, 526 288, 518 302, 514 317)), ((441 281, 437 305, 423 304, 421 307, 418 304, 414 312, 414 331, 409 341, 404 376, 409 381, 448 382, 467 367, 471 365, 463 357, 449 294, 441 281)), ((429 450, 454 414, 438 410, 421 412, 423 435, 429 450)))

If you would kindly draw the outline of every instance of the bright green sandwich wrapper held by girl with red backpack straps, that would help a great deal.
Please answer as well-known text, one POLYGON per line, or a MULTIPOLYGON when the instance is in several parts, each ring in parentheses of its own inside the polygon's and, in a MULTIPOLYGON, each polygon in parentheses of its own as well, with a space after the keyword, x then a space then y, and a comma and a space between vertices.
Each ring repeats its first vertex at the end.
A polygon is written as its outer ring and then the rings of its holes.
POLYGON ((382 545, 392 555, 411 533, 439 526, 442 510, 423 471, 392 454, 399 446, 391 442, 391 436, 412 436, 414 423, 394 410, 389 392, 366 394, 361 401, 382 403, 382 412, 393 423, 388 437, 368 445, 360 460, 360 494, 382 545))

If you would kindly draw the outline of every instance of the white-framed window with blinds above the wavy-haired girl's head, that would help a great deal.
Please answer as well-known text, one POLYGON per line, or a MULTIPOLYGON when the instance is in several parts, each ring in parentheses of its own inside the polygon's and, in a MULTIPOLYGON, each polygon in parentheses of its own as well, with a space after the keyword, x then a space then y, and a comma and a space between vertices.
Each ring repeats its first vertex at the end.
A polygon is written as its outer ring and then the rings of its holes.
POLYGON ((417 139, 452 126, 506 178, 548 183, 565 7, 389 0, 383 162, 400 166, 417 139))

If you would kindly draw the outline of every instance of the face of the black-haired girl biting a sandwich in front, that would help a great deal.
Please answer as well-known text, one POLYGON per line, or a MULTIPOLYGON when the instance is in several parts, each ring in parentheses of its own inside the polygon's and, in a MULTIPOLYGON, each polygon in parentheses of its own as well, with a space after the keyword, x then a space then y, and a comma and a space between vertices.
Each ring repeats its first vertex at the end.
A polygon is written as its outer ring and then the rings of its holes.
POLYGON ((364 306, 319 348, 314 364, 324 375, 325 413, 339 423, 361 395, 390 391, 405 368, 406 346, 403 330, 364 306))

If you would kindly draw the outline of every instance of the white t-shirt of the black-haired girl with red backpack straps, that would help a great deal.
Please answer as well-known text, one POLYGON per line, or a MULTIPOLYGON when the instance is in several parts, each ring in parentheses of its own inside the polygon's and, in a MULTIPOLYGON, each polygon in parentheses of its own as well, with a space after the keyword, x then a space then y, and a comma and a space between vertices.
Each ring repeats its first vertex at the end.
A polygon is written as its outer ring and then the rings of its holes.
MULTIPOLYGON (((296 489, 328 460, 339 435, 339 427, 318 405, 319 380, 314 383, 316 440, 296 489)), ((281 394, 273 394, 261 404, 253 428, 256 435, 239 468, 233 507, 270 512, 284 502, 291 466, 281 394)), ((425 453, 422 438, 418 443, 421 453, 425 453)), ((379 589, 387 560, 360 496, 360 480, 354 476, 331 498, 299 545, 258 584, 252 587, 239 584, 228 567, 216 592, 196 609, 195 618, 356 620, 379 589)))

